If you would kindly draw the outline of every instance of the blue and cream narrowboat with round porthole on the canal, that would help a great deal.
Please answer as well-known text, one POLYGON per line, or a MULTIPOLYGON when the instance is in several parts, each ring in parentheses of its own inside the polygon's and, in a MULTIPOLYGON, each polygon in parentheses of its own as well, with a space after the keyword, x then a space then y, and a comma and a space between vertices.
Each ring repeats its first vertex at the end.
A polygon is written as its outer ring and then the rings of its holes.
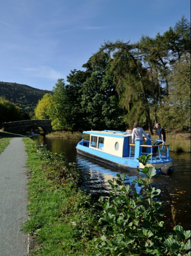
MULTIPOLYGON (((169 157, 169 144, 161 141, 160 145, 152 145, 152 140, 146 138, 143 145, 139 141, 132 144, 130 131, 83 131, 83 137, 78 142, 77 153, 90 157, 96 161, 122 170, 139 172, 144 168, 137 158, 142 154, 153 152, 153 147, 158 147, 156 156, 151 155, 147 166, 156 168, 156 173, 170 174, 172 172, 172 158, 169 157), (89 134, 90 139, 85 140, 84 134, 89 134)), ((150 135, 148 135, 151 138, 150 135)))

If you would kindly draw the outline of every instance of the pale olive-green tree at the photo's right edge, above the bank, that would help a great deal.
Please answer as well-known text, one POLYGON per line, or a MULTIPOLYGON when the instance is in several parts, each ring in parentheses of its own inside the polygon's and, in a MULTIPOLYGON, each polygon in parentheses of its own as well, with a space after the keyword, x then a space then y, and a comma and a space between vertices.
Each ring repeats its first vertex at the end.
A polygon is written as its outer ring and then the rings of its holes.
POLYGON ((159 109, 161 122, 166 127, 190 129, 190 68, 190 53, 187 53, 170 73, 169 95, 159 109))

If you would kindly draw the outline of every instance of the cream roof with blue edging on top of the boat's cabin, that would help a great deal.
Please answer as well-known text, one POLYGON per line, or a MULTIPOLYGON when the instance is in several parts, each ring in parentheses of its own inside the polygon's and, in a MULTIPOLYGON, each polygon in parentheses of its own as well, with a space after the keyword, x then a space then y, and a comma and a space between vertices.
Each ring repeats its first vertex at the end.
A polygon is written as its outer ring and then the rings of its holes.
POLYGON ((124 138, 132 135, 131 133, 127 133, 126 131, 113 131, 113 130, 83 131, 83 133, 91 134, 91 135, 99 135, 99 136, 117 137, 117 138, 124 138))

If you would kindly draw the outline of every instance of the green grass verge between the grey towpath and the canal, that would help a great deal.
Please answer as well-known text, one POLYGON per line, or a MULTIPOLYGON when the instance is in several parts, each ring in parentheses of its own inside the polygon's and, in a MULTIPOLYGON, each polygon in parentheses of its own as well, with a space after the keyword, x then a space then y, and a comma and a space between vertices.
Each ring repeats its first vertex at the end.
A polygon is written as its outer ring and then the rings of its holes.
POLYGON ((52 161, 48 153, 49 160, 39 158, 40 150, 33 140, 23 140, 30 170, 30 203, 29 220, 22 229, 37 238, 30 255, 94 255, 90 230, 95 230, 97 220, 94 223, 90 196, 83 194, 72 179, 60 179, 48 162, 52 161))

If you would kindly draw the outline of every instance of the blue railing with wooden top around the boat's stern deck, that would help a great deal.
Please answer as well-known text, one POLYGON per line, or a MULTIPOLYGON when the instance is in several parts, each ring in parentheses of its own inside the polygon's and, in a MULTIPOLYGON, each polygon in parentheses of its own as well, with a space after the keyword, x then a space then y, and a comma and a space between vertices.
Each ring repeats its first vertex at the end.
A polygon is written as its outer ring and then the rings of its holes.
MULTIPOLYGON (((151 139, 151 140, 154 140, 154 139, 151 139)), ((158 145, 140 145, 139 144, 139 152, 135 152, 135 151, 132 151, 132 147, 136 147, 136 144, 130 144, 130 155, 129 155, 129 158, 131 159, 131 157, 135 157, 137 158, 138 156, 141 156, 141 155, 148 155, 149 153, 153 153, 153 148, 154 147, 158 147, 158 150, 159 150, 159 153, 156 154, 156 157, 151 155, 151 161, 153 160, 156 160, 159 156, 158 159, 162 159, 164 158, 169 158, 169 144, 166 144, 164 142, 164 140, 154 140, 154 141, 158 141, 158 142, 161 142, 161 144, 158 144, 158 145), (146 152, 142 152, 142 147, 146 147, 146 152)))

